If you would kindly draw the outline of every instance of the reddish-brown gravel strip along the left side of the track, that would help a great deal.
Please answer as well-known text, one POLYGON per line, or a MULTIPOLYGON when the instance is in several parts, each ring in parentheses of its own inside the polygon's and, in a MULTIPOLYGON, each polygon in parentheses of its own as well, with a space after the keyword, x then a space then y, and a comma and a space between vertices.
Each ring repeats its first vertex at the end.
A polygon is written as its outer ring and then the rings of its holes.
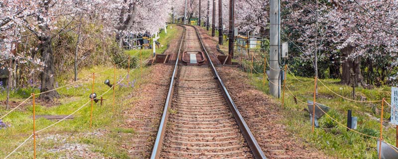
POLYGON ((133 105, 132 109, 124 110, 123 116, 126 120, 120 125, 122 128, 134 129, 135 134, 122 144, 122 149, 126 149, 132 159, 150 157, 170 84, 172 67, 164 64, 152 66, 151 71, 144 76, 147 82, 127 97, 137 98, 130 103, 133 105))

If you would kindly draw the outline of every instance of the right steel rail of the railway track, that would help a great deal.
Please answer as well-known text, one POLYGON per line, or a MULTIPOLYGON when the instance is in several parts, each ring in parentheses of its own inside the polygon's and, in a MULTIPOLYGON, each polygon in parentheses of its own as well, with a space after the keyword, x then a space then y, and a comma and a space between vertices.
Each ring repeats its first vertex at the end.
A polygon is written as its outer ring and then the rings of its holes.
POLYGON ((242 131, 243 137, 246 139, 246 142, 249 145, 249 148, 254 155, 254 158, 255 159, 267 159, 264 155, 264 152, 261 150, 261 147, 258 144, 256 138, 254 138, 252 132, 250 131, 250 128, 247 126, 245 119, 243 119, 238 108, 236 107, 235 103, 233 102, 232 97, 229 95, 227 88, 225 87, 224 83, 222 82, 220 76, 218 75, 218 72, 215 69, 213 62, 211 61, 210 56, 207 53, 207 50, 203 45, 202 39, 199 35, 198 28, 195 26, 193 26, 193 27, 196 30, 196 33, 198 35, 200 45, 204 51, 204 54, 206 55, 206 58, 207 58, 208 62, 210 63, 211 71, 213 72, 213 74, 215 76, 214 78, 217 80, 218 85, 221 87, 222 94, 224 95, 224 98, 227 101, 228 106, 231 109, 231 112, 232 112, 236 122, 238 123, 240 130, 242 131))

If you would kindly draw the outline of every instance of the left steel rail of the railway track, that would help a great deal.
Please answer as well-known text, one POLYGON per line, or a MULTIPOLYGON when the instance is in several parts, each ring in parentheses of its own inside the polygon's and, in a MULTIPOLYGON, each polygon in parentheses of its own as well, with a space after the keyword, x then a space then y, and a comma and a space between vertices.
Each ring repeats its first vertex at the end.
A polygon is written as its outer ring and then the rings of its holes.
MULTIPOLYGON (((182 25, 180 25, 180 26, 182 26, 182 25)), ((171 101, 172 101, 171 98, 173 97, 173 93, 174 93, 174 84, 176 82, 175 79, 176 79, 177 71, 178 71, 178 63, 179 63, 181 50, 183 48, 182 46, 183 46, 183 43, 184 43, 183 41, 184 41, 185 32, 186 32, 185 26, 182 26, 182 27, 184 28, 183 36, 181 37, 180 48, 178 50, 176 64, 174 65, 173 75, 172 75, 171 80, 170 80, 169 92, 167 93, 165 107, 163 108, 162 119, 160 121, 159 130, 158 130, 158 133, 156 135, 155 144, 154 144, 153 149, 152 149, 151 159, 159 159, 160 152, 162 151, 163 138, 164 138, 164 133, 165 133, 165 130, 166 130, 166 122, 167 122, 167 118, 169 116, 168 109, 169 109, 169 106, 171 105, 171 101)))

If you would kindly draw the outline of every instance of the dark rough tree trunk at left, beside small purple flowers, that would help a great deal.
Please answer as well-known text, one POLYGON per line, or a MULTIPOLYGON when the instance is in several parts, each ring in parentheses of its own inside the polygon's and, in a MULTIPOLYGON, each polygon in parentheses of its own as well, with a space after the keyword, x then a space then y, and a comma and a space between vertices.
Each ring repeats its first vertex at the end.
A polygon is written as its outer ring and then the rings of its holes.
MULTIPOLYGON (((41 61, 44 63, 45 67, 43 72, 40 74, 41 87, 40 92, 45 92, 54 89, 54 54, 51 48, 51 37, 41 36, 41 44, 39 45, 41 53, 41 61)), ((53 100, 54 97, 58 97, 58 92, 56 90, 40 94, 40 99, 53 100)))

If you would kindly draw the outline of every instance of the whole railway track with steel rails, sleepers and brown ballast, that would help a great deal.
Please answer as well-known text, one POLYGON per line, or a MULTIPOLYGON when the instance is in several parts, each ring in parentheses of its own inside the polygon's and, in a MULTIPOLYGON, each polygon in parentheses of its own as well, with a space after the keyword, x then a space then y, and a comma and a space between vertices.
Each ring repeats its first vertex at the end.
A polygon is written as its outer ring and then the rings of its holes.
POLYGON ((179 58, 151 159, 265 159, 219 78, 198 30, 190 25, 183 27, 179 58), (182 51, 202 51, 205 62, 200 66, 182 65, 182 51))

